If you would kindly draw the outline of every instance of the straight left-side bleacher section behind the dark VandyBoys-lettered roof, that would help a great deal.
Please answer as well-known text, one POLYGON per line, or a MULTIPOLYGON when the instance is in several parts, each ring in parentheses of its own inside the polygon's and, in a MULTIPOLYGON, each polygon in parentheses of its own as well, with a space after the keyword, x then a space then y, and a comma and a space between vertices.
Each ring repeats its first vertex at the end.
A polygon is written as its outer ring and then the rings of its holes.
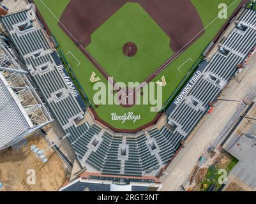
MULTIPOLYGON (((77 99, 64 81, 57 64, 52 57, 55 52, 40 24, 31 15, 31 11, 21 11, 1 18, 8 37, 24 59, 35 84, 48 102, 55 118, 69 133, 70 142, 86 133, 89 126, 84 123, 77 127, 74 120, 82 119, 82 111, 77 99), (25 26, 27 29, 22 30, 25 26)), ((81 155, 84 152, 77 152, 81 155)))

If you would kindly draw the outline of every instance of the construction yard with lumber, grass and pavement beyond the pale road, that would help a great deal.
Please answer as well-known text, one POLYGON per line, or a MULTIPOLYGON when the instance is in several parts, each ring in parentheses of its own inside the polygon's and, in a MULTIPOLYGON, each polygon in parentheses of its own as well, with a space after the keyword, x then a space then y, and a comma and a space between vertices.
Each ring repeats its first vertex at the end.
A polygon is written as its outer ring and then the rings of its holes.
POLYGON ((254 171, 248 166, 254 163, 255 156, 250 157, 255 146, 256 106, 253 102, 240 115, 239 119, 230 127, 225 139, 218 147, 209 147, 207 152, 200 156, 194 166, 188 184, 184 186, 186 191, 255 191, 254 171), (252 143, 243 147, 244 142, 252 143), (234 149, 238 149, 236 153, 234 149), (251 150, 250 150, 251 149, 251 150), (243 155, 245 151, 245 155, 243 155), (248 152, 246 152, 248 151, 248 152), (245 163, 243 158, 246 158, 245 163), (248 170, 245 173, 243 168, 248 170), (220 180, 222 170, 227 172, 227 179, 220 180), (246 175, 246 176, 245 176, 246 175), (211 186, 214 187, 211 189, 211 186))

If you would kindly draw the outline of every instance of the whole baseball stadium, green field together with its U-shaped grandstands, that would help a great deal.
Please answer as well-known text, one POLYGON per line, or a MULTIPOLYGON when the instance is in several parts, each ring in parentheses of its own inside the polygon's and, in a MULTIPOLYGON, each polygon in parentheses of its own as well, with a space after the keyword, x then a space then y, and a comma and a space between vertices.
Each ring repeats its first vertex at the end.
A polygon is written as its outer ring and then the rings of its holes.
POLYGON ((83 178, 157 182, 256 45, 245 0, 30 3, 1 22, 83 178), (119 104, 95 103, 97 83, 119 104), (155 97, 161 88, 160 107, 136 103, 147 84, 155 97), (130 113, 139 117, 122 120, 130 113))

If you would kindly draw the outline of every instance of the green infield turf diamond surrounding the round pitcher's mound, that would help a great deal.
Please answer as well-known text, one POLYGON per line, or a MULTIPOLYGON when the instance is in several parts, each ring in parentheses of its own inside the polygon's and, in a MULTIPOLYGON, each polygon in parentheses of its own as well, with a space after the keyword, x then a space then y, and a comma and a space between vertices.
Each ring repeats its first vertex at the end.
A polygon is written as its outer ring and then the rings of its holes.
POLYGON ((94 31, 86 49, 118 82, 143 82, 174 52, 170 38, 138 3, 127 3, 94 31), (138 52, 123 54, 123 45, 133 42, 138 52))

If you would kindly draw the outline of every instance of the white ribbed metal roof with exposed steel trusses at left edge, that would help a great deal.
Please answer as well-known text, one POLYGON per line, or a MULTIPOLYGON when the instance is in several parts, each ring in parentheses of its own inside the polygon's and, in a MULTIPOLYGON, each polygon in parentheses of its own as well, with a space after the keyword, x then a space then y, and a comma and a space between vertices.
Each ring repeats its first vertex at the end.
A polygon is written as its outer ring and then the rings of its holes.
POLYGON ((4 41, 0 42, 0 150, 51 120, 13 53, 4 41))

